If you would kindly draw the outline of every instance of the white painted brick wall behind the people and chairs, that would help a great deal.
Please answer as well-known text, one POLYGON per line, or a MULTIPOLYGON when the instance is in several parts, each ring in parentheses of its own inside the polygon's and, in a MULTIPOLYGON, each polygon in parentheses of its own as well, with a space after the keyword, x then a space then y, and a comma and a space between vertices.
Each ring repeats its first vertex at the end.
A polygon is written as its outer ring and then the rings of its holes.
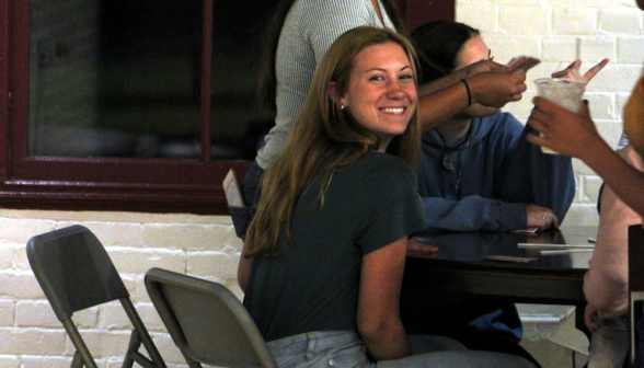
MULTIPOLYGON (((522 122, 534 95, 531 80, 573 61, 577 44, 586 67, 610 57, 586 97, 601 134, 617 143, 621 110, 644 59, 643 16, 633 0, 459 0, 457 19, 479 27, 501 62, 520 54, 543 60, 530 71, 524 100, 506 107, 522 122)), ((601 181, 578 161, 574 168, 577 193, 565 223, 597 223, 601 181)), ((0 210, 0 367, 69 367, 71 343, 31 272, 25 243, 73 223, 90 228, 106 246, 169 367, 186 365, 147 296, 142 275, 149 267, 222 281, 241 297, 235 281, 241 242, 226 216, 0 210)), ((99 366, 119 367, 129 334, 119 304, 79 312, 74 320, 99 366)))

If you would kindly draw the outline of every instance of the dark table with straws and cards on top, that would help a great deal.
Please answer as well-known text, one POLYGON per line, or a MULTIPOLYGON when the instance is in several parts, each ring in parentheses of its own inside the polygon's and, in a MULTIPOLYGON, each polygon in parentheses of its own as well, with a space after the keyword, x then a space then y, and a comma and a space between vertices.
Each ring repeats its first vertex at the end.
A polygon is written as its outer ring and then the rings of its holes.
MULTIPOLYGON (((564 227, 538 233, 424 231, 416 234, 438 248, 434 255, 409 255, 401 289, 401 317, 409 333, 445 334, 453 322, 441 325, 442 315, 462 314, 470 321, 474 311, 496 310, 507 303, 575 306, 583 311, 584 274, 593 252, 542 255, 540 250, 519 243, 588 245, 597 227, 564 227), (528 262, 491 261, 506 255, 528 262), (456 296, 456 297, 455 297, 456 296), (456 299, 455 299, 456 298, 456 299), (453 304, 455 300, 460 301, 453 304), (460 309, 459 309, 460 308, 460 309), (458 311, 458 312, 453 312, 458 311), (473 312, 472 312, 473 313, 473 312), (471 313, 470 313, 471 314, 471 313), (430 330, 428 326, 430 326, 430 330)), ((588 334, 584 313, 576 313, 576 326, 588 334)), ((445 324, 445 323, 444 323, 445 324)))

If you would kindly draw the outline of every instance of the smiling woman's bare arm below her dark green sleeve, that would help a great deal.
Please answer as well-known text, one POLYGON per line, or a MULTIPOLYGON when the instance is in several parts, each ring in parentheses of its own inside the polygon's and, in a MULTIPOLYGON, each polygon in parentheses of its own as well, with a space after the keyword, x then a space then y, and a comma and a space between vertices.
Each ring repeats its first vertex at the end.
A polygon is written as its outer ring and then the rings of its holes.
POLYGON ((407 237, 363 256, 358 332, 375 360, 411 355, 399 300, 407 237))

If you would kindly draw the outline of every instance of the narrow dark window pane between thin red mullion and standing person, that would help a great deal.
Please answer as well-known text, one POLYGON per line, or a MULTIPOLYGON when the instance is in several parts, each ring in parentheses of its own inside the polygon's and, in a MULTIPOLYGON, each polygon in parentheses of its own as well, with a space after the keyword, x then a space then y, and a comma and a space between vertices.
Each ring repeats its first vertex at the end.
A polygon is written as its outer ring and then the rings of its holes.
POLYGON ((212 157, 254 160, 274 122, 260 110, 263 37, 277 0, 216 1, 212 11, 212 157))

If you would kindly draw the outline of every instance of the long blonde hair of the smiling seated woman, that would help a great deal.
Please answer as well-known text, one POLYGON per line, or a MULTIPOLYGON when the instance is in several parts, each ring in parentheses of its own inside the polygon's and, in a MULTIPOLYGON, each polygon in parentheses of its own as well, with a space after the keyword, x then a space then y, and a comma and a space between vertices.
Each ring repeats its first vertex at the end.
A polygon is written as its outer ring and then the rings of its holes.
MULTIPOLYGON (((294 209, 318 172, 323 204, 325 186, 335 169, 378 149, 379 138, 334 103, 329 88, 335 82, 337 96, 343 95, 350 81, 355 57, 369 46, 386 43, 403 48, 417 82, 414 49, 404 36, 393 31, 361 26, 344 33, 333 43, 318 66, 309 95, 284 149, 262 177, 260 204, 245 239, 246 256, 276 256, 281 230, 292 240, 294 209)), ((391 140, 387 151, 414 165, 419 145, 421 128, 417 112, 414 112, 406 130, 391 140)))

